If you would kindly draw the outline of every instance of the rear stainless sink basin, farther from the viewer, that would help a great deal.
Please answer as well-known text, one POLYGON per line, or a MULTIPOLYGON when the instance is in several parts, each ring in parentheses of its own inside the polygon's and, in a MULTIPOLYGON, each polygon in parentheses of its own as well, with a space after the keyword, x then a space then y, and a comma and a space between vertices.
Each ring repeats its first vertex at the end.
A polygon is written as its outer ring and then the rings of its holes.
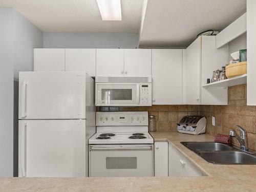
POLYGON ((190 150, 198 151, 232 151, 234 148, 230 145, 215 142, 180 142, 190 150))

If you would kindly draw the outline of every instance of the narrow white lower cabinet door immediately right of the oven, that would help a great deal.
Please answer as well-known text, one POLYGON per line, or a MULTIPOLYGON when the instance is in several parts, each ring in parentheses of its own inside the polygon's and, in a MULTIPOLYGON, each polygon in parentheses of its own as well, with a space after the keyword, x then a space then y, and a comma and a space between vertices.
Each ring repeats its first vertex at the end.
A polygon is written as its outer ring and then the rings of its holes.
POLYGON ((155 177, 168 177, 168 142, 155 142, 155 177))

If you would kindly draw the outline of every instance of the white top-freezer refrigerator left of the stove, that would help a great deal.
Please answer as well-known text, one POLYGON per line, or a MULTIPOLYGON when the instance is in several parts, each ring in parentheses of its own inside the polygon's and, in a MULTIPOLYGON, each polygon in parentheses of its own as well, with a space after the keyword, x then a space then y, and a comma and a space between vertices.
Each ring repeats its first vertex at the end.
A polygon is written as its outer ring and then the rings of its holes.
POLYGON ((19 177, 88 176, 94 100, 86 72, 19 72, 19 177))

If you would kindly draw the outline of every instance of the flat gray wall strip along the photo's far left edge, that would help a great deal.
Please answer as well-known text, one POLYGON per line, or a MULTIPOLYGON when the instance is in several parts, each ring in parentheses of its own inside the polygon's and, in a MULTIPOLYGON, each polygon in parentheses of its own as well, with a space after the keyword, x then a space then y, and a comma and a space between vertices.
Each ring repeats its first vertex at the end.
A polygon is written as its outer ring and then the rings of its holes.
POLYGON ((0 177, 13 175, 13 9, 0 8, 0 177))

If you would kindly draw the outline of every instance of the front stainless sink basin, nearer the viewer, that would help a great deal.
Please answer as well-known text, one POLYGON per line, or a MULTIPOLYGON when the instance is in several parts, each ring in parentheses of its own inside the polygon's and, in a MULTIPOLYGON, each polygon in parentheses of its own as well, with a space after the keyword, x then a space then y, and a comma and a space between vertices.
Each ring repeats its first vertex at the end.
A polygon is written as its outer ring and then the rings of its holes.
POLYGON ((198 152, 198 155, 209 163, 218 164, 256 164, 256 157, 237 151, 198 152))

